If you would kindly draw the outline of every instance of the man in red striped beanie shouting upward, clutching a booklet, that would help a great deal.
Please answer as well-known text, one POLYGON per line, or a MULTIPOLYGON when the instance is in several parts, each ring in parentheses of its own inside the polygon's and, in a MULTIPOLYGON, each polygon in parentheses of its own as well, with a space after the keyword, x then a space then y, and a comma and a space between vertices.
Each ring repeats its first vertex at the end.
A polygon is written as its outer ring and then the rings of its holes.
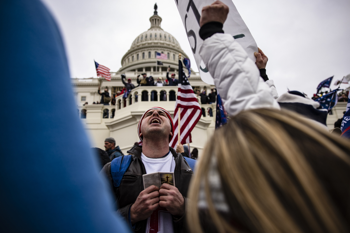
POLYGON ((186 232, 183 223, 193 171, 183 156, 169 147, 174 136, 170 113, 159 107, 148 109, 140 119, 138 134, 142 146, 127 151, 132 160, 119 187, 113 185, 113 161, 101 171, 109 178, 118 212, 135 232, 186 232), (151 185, 144 189, 142 175, 154 172, 174 172, 176 187, 163 183, 160 188, 151 185))

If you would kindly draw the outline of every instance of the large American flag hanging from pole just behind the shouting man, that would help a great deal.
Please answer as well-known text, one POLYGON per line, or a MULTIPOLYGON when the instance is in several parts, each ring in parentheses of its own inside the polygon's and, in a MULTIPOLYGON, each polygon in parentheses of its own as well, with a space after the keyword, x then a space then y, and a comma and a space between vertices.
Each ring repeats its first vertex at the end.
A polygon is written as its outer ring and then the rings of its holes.
POLYGON ((177 91, 177 100, 174 111, 174 137, 169 146, 176 149, 178 144, 177 133, 179 131, 178 119, 180 108, 180 142, 181 144, 191 143, 191 131, 199 121, 202 115, 201 106, 198 103, 195 93, 183 71, 182 62, 179 60, 179 85, 177 91))

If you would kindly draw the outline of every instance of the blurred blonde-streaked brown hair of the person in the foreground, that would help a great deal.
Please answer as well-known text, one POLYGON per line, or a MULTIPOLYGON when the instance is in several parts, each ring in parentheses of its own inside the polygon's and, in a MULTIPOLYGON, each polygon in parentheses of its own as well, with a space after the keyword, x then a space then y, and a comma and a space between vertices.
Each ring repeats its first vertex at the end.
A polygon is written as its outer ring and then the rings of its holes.
MULTIPOLYGON (((203 232, 200 190, 205 192, 207 212, 216 230, 239 232, 224 220, 212 201, 208 171, 213 158, 226 199, 236 198, 252 225, 242 223, 248 229, 266 233, 345 232, 344 217, 339 216, 310 161, 327 158, 350 169, 346 139, 288 110, 255 109, 232 117, 208 141, 189 189, 191 232, 203 232), (310 231, 298 224, 295 210, 310 231)), ((337 167, 328 171, 332 169, 337 167)))

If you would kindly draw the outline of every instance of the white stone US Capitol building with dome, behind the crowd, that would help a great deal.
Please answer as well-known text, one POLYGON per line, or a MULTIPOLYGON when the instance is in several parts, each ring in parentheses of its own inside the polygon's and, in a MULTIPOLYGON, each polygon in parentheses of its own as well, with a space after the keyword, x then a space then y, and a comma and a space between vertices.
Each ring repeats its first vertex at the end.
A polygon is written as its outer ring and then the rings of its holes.
MULTIPOLYGON (((141 33, 132 42, 131 48, 125 53, 121 59, 122 67, 117 72, 111 72, 112 80, 106 81, 104 78, 89 79, 72 79, 73 88, 75 90, 76 105, 79 110, 79 117, 82 118, 83 126, 91 139, 92 147, 104 149, 104 139, 113 137, 116 144, 126 154, 135 142, 139 141, 137 127, 142 114, 151 107, 165 108, 173 115, 175 101, 169 101, 169 92, 177 93, 176 86, 140 86, 131 90, 126 105, 122 104, 123 95, 116 97, 116 105, 92 104, 101 100, 98 94, 98 84, 101 83, 101 90, 108 88, 110 96, 117 93, 124 87, 120 75, 125 74, 127 79, 131 79, 132 83, 137 86, 137 76, 146 73, 147 77, 152 76, 156 81, 158 77, 166 79, 166 70, 170 66, 170 73, 175 73, 176 78, 179 76, 178 54, 188 57, 180 47, 175 37, 164 31, 161 27, 162 18, 158 16, 155 10, 154 15, 149 18, 151 28, 141 33), (164 53, 168 60, 160 60, 163 66, 156 65, 155 53, 164 53), (157 96, 155 101, 151 101, 151 92, 155 91, 157 96), (160 100, 160 92, 165 91, 167 95, 166 101, 160 100), (141 101, 141 93, 147 92, 148 101, 141 101), (88 104, 83 105, 85 102, 88 104), (86 118, 85 118, 86 117, 86 118)), ((185 69, 186 74, 187 70, 185 69)), ((141 76, 142 77, 142 76, 141 76)), ((189 78, 191 86, 194 89, 207 89, 207 94, 214 86, 210 86, 201 80, 199 73, 191 71, 189 78)), ((281 94, 281 93, 279 93, 281 94)), ((198 99, 198 102, 200 100, 198 99)), ((190 143, 191 151, 197 148, 199 155, 205 146, 206 141, 210 138, 215 129, 215 110, 216 104, 201 104, 205 109, 205 117, 202 115, 192 131, 192 143, 190 143), (208 115, 208 109, 212 109, 213 116, 208 115)), ((334 122, 343 116, 346 103, 338 103, 332 111, 332 115, 328 115, 328 128, 333 128, 334 122)))

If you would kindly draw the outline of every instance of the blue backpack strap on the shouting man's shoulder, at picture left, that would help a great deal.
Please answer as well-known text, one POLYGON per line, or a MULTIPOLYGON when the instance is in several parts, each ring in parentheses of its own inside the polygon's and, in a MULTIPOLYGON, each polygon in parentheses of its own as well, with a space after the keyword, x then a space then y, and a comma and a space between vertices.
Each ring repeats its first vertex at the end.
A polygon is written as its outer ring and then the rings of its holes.
POLYGON ((113 185, 115 187, 119 187, 124 173, 130 166, 131 160, 132 160, 132 155, 122 155, 112 160, 111 174, 113 179, 113 185))

